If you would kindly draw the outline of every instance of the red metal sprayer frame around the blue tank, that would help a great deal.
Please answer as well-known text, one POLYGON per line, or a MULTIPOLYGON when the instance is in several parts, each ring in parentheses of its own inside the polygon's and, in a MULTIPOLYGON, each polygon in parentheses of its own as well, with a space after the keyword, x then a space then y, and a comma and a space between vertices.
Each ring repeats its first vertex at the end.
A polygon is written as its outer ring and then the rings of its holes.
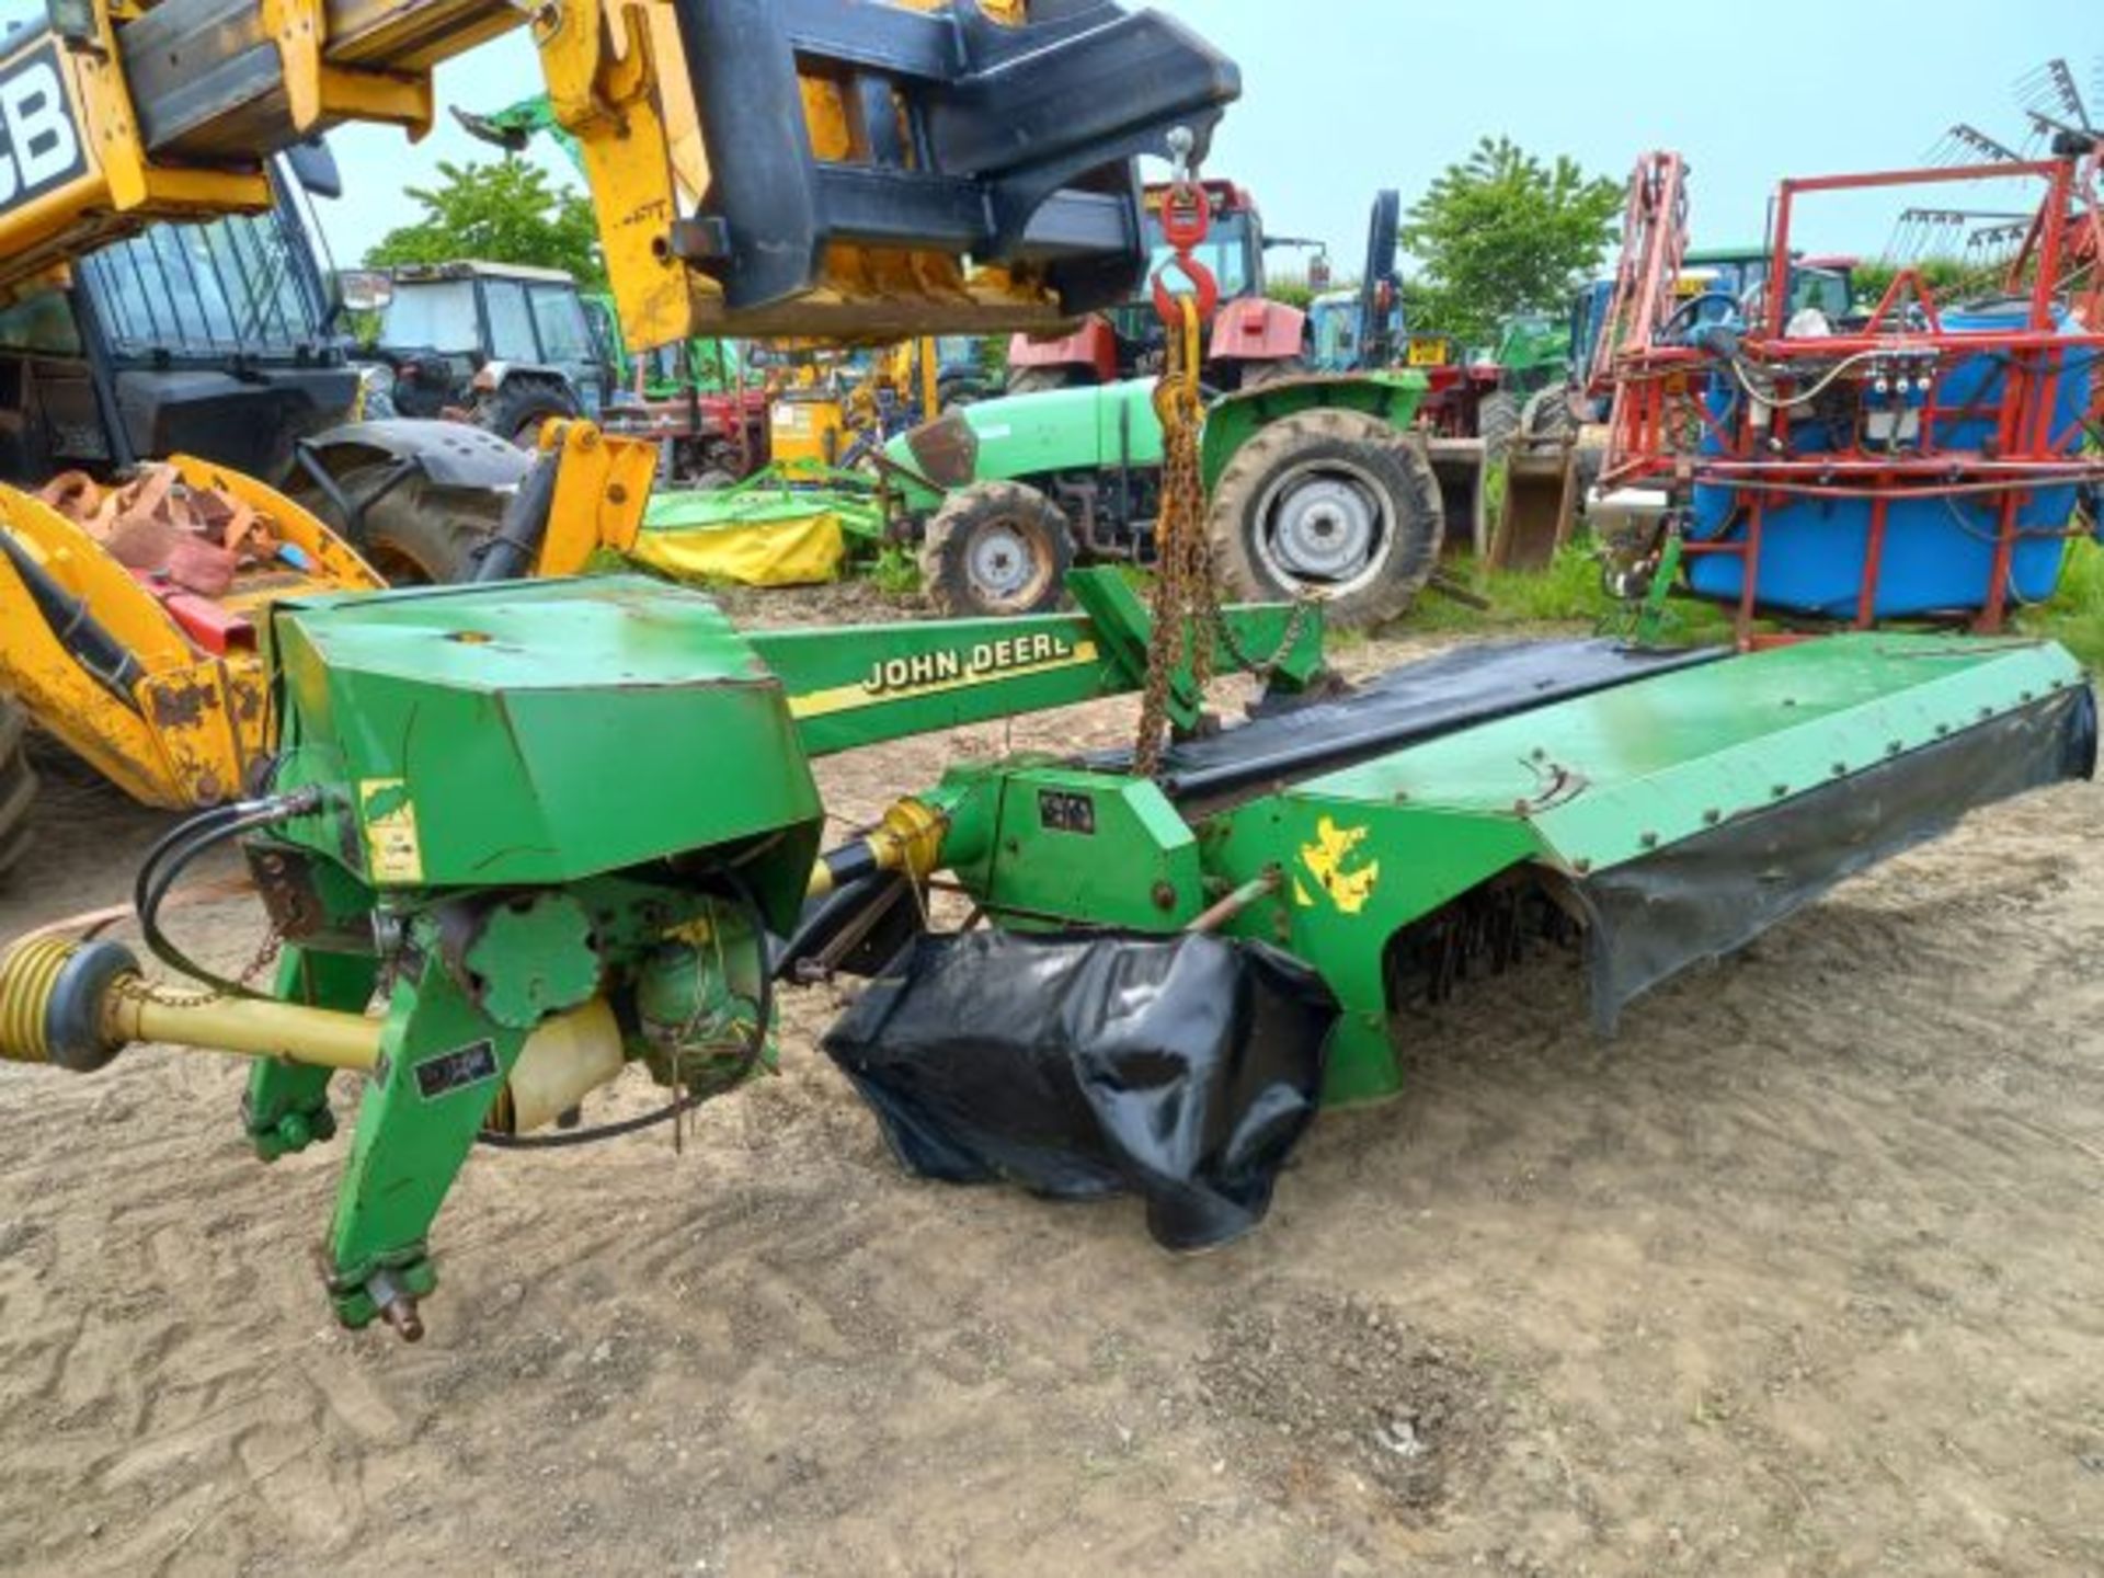
MULTIPOLYGON (((2104 480, 2104 459, 2079 452, 2077 438, 2054 444, 2051 412, 2062 368, 2070 356, 2104 360, 2104 219, 2096 181, 2104 149, 2070 158, 2018 160, 1961 170, 1877 170, 1791 179, 1778 187, 1769 236, 1769 284, 1763 313, 1738 343, 1738 364, 1767 381, 1780 400, 1769 421, 1757 423, 1753 402, 1740 402, 1732 429, 1719 427, 1702 406, 1708 377, 1719 366, 1694 345, 1662 345, 1658 330, 1673 311, 1673 286, 1687 250, 1685 166, 1675 154, 1645 154, 1631 181, 1624 250, 1616 271, 1607 322, 1595 347, 1589 389, 1612 396, 1610 446, 1601 486, 1666 486, 1677 501, 1696 484, 1729 486, 1738 494, 1740 541, 1683 541, 1681 553, 1736 553, 1744 558, 1738 604, 1740 640, 1753 640, 1761 585, 1765 515, 1801 497, 1866 499, 1868 543, 1856 598, 1856 625, 1870 625, 1879 606, 1885 526, 1902 499, 1990 497, 1997 537, 1992 583, 1982 593, 1974 625, 1999 629, 2007 614, 2009 570, 2020 537, 2024 499, 2032 488, 2104 480), (2026 301, 2020 328, 1948 332, 1934 295, 1915 269, 1904 269, 1885 290, 1868 324, 1828 337, 1788 337, 1791 240, 1797 202, 1826 191, 1866 191, 1946 181, 2037 179, 2045 196, 2028 238, 2009 263, 2003 288, 2026 301), (1921 305, 1923 326, 1910 328, 1902 303, 1921 305), (2081 335, 2056 332, 2056 311, 2075 311, 2081 335), (1990 410, 1944 404, 1944 375, 1965 358, 2007 358, 1999 404, 1990 410), (1797 452, 1791 444, 1793 396, 1816 393, 1852 368, 1873 360, 1919 358, 1934 364, 1934 387, 1921 408, 1919 446, 1894 452, 1864 446, 1858 429, 1843 450, 1797 452), (1957 421, 1992 421, 1992 440, 1976 450, 1938 444, 1957 421), (1704 452, 1706 433, 1721 452, 1704 452)), ((2091 375, 2091 419, 2104 410, 2104 368, 2091 375)))

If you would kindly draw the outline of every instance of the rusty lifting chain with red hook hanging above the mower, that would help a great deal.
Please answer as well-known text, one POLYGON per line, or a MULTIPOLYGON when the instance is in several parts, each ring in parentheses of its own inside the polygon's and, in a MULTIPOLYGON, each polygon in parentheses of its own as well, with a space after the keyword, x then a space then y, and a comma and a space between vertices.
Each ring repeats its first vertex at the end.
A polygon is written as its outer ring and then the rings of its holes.
POLYGON ((1195 139, 1170 133, 1176 168, 1161 196, 1161 236, 1174 255, 1155 269, 1155 311, 1168 337, 1155 417, 1161 421, 1161 507, 1155 518, 1153 631, 1147 644, 1147 688, 1140 694, 1140 734, 1132 770, 1153 776, 1168 736, 1170 682, 1191 648, 1191 677, 1199 690, 1212 680, 1212 644, 1220 593, 1214 583, 1212 545, 1206 541, 1206 480, 1199 473, 1199 429, 1206 402, 1199 393, 1203 324, 1220 301, 1212 269, 1193 257, 1212 227, 1212 200, 1191 170, 1195 139), (1174 288, 1170 276, 1182 276, 1174 288))

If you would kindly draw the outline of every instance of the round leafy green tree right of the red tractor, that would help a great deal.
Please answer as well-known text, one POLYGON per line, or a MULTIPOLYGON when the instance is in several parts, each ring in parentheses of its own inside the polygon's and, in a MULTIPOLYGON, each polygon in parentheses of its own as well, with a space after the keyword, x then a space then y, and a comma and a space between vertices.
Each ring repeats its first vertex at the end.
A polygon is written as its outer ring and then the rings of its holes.
POLYGON ((1485 137, 1403 217, 1403 246, 1420 263, 1416 322, 1485 343, 1509 313, 1559 309, 1599 267, 1620 213, 1614 181, 1485 137))

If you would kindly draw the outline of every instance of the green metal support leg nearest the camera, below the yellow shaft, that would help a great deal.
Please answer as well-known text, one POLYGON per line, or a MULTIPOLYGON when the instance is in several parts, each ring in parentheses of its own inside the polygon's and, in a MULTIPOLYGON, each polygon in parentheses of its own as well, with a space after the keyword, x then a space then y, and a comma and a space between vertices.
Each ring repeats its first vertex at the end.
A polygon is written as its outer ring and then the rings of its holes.
POLYGON ((396 987, 328 1229, 328 1292, 345 1326, 381 1315, 421 1336, 417 1300, 438 1286, 431 1220, 524 1044, 526 1031, 484 1016, 436 957, 396 987))

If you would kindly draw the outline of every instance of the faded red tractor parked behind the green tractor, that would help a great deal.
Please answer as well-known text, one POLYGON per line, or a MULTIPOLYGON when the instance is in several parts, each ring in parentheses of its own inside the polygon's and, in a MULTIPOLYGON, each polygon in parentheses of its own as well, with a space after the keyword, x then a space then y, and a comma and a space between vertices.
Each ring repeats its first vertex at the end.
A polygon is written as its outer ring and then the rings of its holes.
MULTIPOLYGON (((1206 324, 1206 385, 1256 389, 1309 370, 1307 313, 1265 297, 1265 248, 1307 242, 1265 238, 1265 221, 1248 191, 1231 181, 1206 181, 1212 229, 1197 261, 1220 282, 1220 305, 1206 324)), ((1161 234, 1161 198, 1147 187, 1147 234, 1159 267, 1174 255, 1161 234)), ((1071 335, 1008 343, 1008 393, 1075 389, 1161 370, 1161 318, 1145 290, 1121 307, 1096 313, 1071 335)))

